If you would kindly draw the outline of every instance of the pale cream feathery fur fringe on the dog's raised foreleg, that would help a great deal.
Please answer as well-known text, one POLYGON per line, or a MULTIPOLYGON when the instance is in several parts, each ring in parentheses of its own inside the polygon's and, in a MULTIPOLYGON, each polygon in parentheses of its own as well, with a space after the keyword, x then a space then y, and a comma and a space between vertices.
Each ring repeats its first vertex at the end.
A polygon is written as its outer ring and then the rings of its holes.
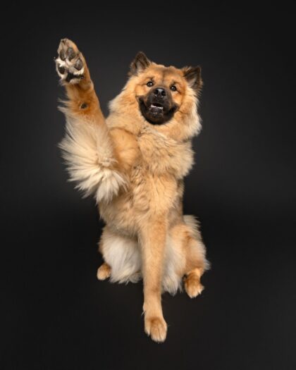
POLYGON ((66 135, 59 144, 66 160, 70 181, 77 183, 85 196, 109 202, 126 180, 116 168, 113 143, 106 124, 85 122, 66 113, 66 135))

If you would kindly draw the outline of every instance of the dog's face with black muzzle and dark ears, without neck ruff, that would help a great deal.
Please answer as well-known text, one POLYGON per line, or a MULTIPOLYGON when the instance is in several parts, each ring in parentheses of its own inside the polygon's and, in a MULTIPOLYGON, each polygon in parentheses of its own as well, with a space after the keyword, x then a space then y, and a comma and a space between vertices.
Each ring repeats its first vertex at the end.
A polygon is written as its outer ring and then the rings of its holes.
POLYGON ((152 125, 168 123, 184 106, 187 111, 188 95, 197 97, 202 88, 200 67, 161 66, 142 52, 132 61, 130 76, 140 112, 152 125))

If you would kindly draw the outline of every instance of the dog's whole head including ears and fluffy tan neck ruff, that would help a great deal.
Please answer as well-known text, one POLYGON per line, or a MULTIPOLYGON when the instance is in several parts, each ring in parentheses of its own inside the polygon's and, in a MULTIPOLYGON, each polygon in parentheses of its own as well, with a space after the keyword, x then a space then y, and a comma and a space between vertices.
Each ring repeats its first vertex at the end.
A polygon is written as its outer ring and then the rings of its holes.
POLYGON ((174 140, 187 140, 199 132, 198 97, 202 89, 200 67, 166 67, 139 52, 130 65, 130 78, 110 104, 128 130, 150 125, 174 140))

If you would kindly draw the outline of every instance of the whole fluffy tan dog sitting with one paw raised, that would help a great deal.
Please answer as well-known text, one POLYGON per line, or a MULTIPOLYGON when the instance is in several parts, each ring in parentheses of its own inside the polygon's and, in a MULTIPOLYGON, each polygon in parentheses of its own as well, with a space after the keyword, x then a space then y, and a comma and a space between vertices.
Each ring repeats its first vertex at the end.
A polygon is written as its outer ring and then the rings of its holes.
POLYGON ((60 146, 70 180, 94 195, 104 227, 99 280, 144 282, 144 330, 166 339, 161 292, 199 295, 209 267, 194 217, 183 215, 183 178, 192 168, 192 137, 202 88, 199 67, 165 67, 142 52, 104 118, 84 56, 69 39, 58 47, 56 70, 68 101, 60 146))

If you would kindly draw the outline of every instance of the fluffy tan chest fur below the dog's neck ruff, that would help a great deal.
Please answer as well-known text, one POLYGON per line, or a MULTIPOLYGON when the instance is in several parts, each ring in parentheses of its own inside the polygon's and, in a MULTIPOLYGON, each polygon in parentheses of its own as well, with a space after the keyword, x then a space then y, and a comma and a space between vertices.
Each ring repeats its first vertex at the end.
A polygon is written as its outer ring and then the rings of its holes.
POLYGON ((191 144, 175 142, 149 127, 135 140, 140 156, 130 171, 132 207, 141 216, 166 213, 178 203, 178 180, 192 166, 191 144))

